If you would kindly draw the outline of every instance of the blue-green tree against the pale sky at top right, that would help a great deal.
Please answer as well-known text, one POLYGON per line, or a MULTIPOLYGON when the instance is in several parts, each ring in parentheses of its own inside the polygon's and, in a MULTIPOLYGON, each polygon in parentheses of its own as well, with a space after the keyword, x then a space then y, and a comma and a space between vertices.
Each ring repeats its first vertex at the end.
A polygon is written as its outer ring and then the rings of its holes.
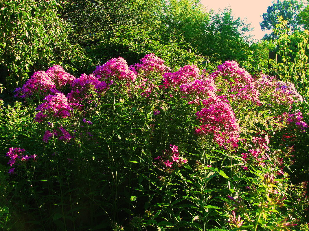
MULTIPOLYGON (((291 30, 298 29, 297 15, 301 10, 303 3, 296 0, 277 0, 272 2, 273 5, 267 7, 267 12, 262 15, 263 21, 260 22, 262 30, 272 30, 278 24, 278 17, 287 21, 287 27, 291 30)), ((275 38, 275 34, 265 34, 265 40, 275 38)))

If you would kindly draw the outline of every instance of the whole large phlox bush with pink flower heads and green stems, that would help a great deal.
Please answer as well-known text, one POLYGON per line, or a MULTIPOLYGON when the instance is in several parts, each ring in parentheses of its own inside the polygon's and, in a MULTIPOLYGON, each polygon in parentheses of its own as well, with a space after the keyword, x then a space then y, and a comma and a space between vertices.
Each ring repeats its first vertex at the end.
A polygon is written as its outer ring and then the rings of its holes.
POLYGON ((15 94, 1 103, 3 229, 308 230, 307 183, 289 178, 286 140, 307 137, 292 83, 148 54, 78 78, 54 65, 15 94))

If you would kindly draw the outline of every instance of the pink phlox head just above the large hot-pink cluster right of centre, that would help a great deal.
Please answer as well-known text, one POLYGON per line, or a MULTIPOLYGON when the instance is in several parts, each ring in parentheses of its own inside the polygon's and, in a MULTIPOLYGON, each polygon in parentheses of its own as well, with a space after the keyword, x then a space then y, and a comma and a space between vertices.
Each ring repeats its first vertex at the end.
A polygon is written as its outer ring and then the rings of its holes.
POLYGON ((195 79, 180 85, 180 91, 184 98, 188 100, 188 104, 200 104, 204 98, 216 99, 215 92, 217 87, 212 78, 195 79))

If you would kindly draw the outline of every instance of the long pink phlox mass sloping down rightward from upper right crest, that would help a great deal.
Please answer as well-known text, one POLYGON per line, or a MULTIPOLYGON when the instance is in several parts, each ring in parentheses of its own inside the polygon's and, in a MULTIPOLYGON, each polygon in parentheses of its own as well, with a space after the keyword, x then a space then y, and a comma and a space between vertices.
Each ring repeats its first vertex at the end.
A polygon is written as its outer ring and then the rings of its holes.
POLYGON ((228 93, 232 99, 250 100, 254 103, 261 103, 260 92, 256 80, 235 61, 226 61, 218 66, 217 70, 211 74, 217 79, 222 77, 228 83, 228 93))

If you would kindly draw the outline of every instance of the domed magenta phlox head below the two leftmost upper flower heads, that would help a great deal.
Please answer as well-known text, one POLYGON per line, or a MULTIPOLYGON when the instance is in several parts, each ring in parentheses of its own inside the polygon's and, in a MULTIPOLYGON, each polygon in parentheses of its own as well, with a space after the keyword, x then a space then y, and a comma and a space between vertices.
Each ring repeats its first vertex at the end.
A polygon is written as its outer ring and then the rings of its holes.
POLYGON ((70 107, 66 96, 62 93, 47 95, 44 101, 36 108, 36 110, 40 111, 36 114, 36 122, 41 123, 43 120, 49 119, 49 117, 58 119, 71 115, 73 109, 70 107))

